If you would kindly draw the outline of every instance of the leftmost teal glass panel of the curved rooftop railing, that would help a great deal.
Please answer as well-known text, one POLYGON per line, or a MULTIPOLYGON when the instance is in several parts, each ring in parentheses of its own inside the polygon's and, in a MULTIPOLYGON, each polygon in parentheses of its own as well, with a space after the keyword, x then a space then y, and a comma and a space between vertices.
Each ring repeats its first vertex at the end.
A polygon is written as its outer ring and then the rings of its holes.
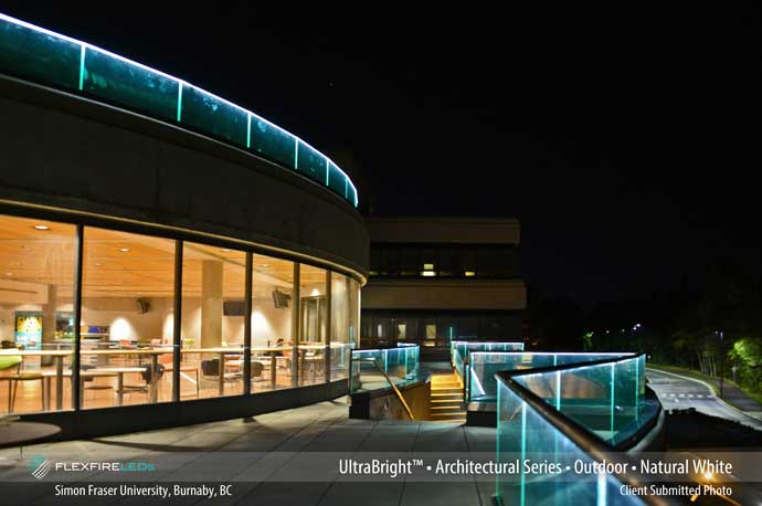
POLYGON ((80 87, 82 44, 0 14, 0 70, 67 88, 80 87))

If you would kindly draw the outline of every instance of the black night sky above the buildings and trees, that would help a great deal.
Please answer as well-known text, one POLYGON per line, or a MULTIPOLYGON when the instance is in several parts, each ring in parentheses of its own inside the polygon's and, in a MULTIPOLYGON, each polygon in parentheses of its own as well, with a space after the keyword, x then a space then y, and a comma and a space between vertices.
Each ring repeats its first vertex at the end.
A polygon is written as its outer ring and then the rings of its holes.
POLYGON ((341 165, 363 212, 518 217, 542 296, 648 296, 718 260, 760 275, 749 6, 72 3, 0 11, 287 128, 341 165))

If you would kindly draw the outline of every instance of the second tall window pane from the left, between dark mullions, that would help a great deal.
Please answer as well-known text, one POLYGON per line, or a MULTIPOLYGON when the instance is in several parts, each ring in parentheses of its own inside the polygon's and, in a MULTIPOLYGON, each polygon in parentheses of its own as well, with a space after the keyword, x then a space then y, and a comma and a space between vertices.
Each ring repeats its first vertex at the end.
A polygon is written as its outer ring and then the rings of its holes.
POLYGON ((171 401, 173 294, 174 241, 84 229, 84 408, 171 401))

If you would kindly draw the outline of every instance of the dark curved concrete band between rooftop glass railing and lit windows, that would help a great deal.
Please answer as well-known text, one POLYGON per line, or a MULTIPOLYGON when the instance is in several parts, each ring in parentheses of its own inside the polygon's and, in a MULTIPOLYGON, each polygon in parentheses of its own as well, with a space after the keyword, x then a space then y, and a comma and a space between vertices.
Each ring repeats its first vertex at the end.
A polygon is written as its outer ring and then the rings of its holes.
POLYGON ((240 239, 364 276, 368 234, 360 214, 288 169, 2 76, 0 112, 0 200, 240 239))

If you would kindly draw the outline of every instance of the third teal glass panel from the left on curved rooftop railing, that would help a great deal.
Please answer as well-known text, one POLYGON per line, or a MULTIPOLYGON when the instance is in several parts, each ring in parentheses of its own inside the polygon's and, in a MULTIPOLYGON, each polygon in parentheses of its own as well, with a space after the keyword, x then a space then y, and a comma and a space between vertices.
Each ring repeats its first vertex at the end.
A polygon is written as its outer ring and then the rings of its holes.
POLYGON ((246 147, 248 113, 194 86, 182 86, 180 123, 246 147))

